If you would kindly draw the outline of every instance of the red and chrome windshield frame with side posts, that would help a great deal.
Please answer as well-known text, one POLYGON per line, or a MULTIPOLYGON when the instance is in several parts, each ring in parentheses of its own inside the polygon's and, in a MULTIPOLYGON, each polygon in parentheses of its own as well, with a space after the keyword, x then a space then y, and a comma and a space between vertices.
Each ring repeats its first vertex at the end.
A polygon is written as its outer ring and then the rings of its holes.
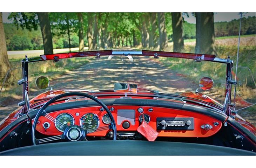
MULTIPOLYGON (((224 113, 227 113, 230 116, 231 112, 228 112, 227 108, 230 105, 231 100, 231 69, 233 67, 233 61, 231 59, 222 59, 216 58, 216 55, 210 54, 193 54, 193 53, 182 53, 182 52, 167 52, 167 51, 149 51, 149 50, 141 50, 141 51, 129 51, 129 50, 99 50, 99 51, 83 51, 83 52, 68 52, 68 53, 59 53, 59 54, 47 54, 40 55, 40 57, 26 58, 22 60, 22 68, 23 68, 23 79, 26 79, 26 83, 23 83, 23 101, 25 101, 25 93, 29 94, 28 88, 28 63, 38 62, 38 61, 47 61, 53 60, 54 62, 58 62, 59 59, 66 58, 74 58, 74 57, 95 57, 99 59, 100 56, 152 56, 155 59, 159 57, 175 57, 175 58, 184 58, 184 59, 194 59, 196 62, 201 61, 210 61, 226 64, 226 80, 225 80, 225 104, 222 110, 224 113)), ((23 113, 26 113, 28 109, 26 106, 23 108, 23 113)))

